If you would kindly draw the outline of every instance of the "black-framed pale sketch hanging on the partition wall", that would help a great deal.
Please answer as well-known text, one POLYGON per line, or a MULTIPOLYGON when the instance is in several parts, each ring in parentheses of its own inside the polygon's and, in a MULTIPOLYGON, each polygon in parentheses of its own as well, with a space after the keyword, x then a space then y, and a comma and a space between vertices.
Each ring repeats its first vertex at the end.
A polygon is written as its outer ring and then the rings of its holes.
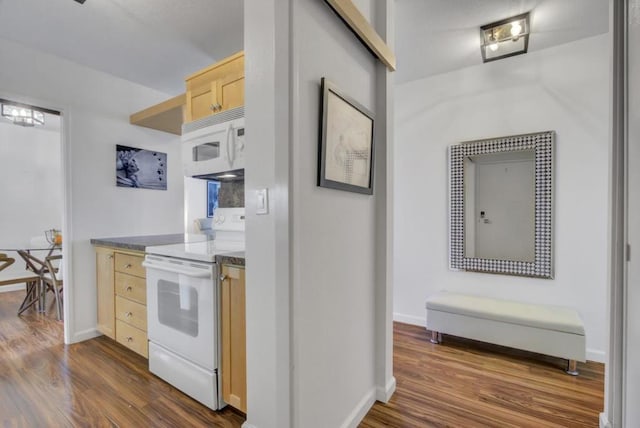
POLYGON ((373 113, 322 78, 318 186, 373 194, 373 113))

